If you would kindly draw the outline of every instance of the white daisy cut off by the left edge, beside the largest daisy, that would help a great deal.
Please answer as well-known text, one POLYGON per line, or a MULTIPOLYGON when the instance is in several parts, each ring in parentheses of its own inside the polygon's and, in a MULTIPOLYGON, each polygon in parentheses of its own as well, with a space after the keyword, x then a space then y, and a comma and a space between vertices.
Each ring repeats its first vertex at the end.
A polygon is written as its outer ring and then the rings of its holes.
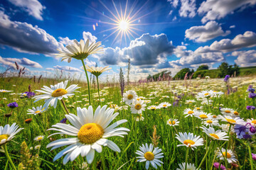
POLYGON ((23 128, 18 129, 16 123, 10 125, 0 126, 0 146, 7 142, 10 142, 18 132, 23 130, 23 128))

